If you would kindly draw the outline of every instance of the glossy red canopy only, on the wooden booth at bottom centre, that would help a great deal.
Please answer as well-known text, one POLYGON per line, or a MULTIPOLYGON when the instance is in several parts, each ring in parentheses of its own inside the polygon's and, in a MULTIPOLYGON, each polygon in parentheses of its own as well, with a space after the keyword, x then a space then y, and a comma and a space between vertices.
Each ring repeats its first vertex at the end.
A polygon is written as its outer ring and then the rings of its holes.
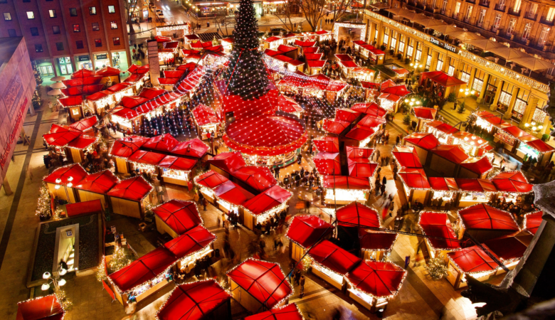
POLYGON ((293 292, 277 263, 249 258, 229 271, 228 277, 268 309, 293 292))

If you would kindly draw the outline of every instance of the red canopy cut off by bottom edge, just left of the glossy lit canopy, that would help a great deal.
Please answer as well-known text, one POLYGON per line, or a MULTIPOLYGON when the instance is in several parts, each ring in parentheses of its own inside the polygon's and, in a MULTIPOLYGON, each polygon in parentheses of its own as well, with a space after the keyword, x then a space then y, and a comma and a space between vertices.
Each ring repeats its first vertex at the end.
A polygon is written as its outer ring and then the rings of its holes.
POLYGON ((230 299, 231 294, 213 279, 180 284, 169 294, 156 318, 201 320, 230 299))

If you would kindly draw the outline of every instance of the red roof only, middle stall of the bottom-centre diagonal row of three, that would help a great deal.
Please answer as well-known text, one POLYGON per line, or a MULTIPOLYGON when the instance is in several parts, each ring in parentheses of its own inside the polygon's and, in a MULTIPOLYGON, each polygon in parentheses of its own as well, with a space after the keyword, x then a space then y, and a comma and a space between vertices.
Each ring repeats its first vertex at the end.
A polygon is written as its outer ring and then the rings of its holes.
POLYGON ((347 250, 337 247, 337 245, 334 245, 328 240, 314 245, 308 252, 308 255, 312 257, 314 262, 341 275, 347 274, 347 272, 362 261, 361 258, 347 252, 347 250))

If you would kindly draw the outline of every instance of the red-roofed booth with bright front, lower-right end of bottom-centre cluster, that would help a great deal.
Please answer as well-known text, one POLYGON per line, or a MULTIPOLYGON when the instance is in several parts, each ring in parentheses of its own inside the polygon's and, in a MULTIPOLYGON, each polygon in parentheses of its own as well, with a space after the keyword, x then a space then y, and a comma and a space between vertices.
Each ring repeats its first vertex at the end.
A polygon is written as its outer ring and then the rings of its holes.
POLYGON ((406 274, 392 262, 364 260, 345 276, 347 292, 371 312, 385 311, 389 300, 401 289, 406 274))

